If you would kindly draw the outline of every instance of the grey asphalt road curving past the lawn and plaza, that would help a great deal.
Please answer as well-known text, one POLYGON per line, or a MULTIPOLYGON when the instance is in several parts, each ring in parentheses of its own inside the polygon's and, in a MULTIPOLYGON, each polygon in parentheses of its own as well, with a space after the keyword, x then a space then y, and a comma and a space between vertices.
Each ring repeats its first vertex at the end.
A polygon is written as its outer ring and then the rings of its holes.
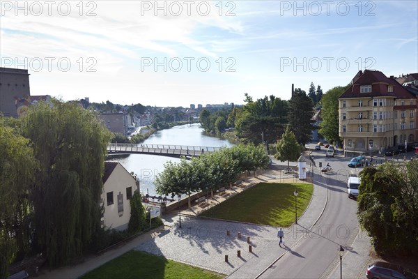
POLYGON ((289 252, 268 269, 261 278, 321 278, 326 277, 339 264, 340 244, 349 252, 359 227, 356 211, 357 204, 348 198, 346 181, 348 175, 361 169, 350 169, 347 166, 350 158, 336 156, 326 158, 325 149, 313 151, 316 165, 330 163, 332 174, 314 175, 316 184, 328 187, 328 202, 323 216, 309 231, 304 232, 296 246, 288 248, 289 252))

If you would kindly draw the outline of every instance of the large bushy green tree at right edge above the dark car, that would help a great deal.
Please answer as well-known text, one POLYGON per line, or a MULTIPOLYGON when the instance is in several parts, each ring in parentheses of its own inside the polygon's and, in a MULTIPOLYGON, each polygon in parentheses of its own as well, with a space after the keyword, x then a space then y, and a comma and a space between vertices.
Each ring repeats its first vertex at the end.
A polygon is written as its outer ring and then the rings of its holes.
POLYGON ((378 253, 418 251, 418 162, 385 163, 360 172, 359 223, 378 253))

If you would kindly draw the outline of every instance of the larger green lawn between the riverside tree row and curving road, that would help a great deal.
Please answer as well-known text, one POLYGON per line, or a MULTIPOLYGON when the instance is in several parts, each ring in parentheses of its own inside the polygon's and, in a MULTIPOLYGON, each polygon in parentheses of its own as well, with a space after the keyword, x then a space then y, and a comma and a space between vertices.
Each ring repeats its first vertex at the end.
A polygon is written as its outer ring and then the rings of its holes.
POLYGON ((297 190, 297 217, 311 200, 314 186, 309 183, 258 183, 244 192, 226 199, 200 216, 235 220, 276 227, 289 227, 295 222, 295 195, 297 190))

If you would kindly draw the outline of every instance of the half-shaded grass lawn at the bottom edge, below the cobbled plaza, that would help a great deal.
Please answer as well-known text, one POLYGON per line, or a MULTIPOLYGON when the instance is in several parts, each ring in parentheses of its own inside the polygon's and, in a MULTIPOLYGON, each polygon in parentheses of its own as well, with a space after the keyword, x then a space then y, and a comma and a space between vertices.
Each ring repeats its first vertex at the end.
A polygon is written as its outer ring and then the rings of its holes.
POLYGON ((121 257, 103 264, 98 269, 90 271, 82 279, 114 279, 114 278, 224 278, 218 273, 199 269, 187 264, 174 262, 164 257, 158 257, 140 251, 129 251, 121 257))

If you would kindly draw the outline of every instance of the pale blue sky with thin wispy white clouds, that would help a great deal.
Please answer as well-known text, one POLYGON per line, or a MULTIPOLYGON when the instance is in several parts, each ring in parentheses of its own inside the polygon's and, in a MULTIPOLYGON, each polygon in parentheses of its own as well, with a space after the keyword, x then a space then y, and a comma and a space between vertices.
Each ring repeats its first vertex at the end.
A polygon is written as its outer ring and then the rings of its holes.
POLYGON ((31 95, 158 107, 418 73, 418 1, 3 1, 0 66, 31 95))

